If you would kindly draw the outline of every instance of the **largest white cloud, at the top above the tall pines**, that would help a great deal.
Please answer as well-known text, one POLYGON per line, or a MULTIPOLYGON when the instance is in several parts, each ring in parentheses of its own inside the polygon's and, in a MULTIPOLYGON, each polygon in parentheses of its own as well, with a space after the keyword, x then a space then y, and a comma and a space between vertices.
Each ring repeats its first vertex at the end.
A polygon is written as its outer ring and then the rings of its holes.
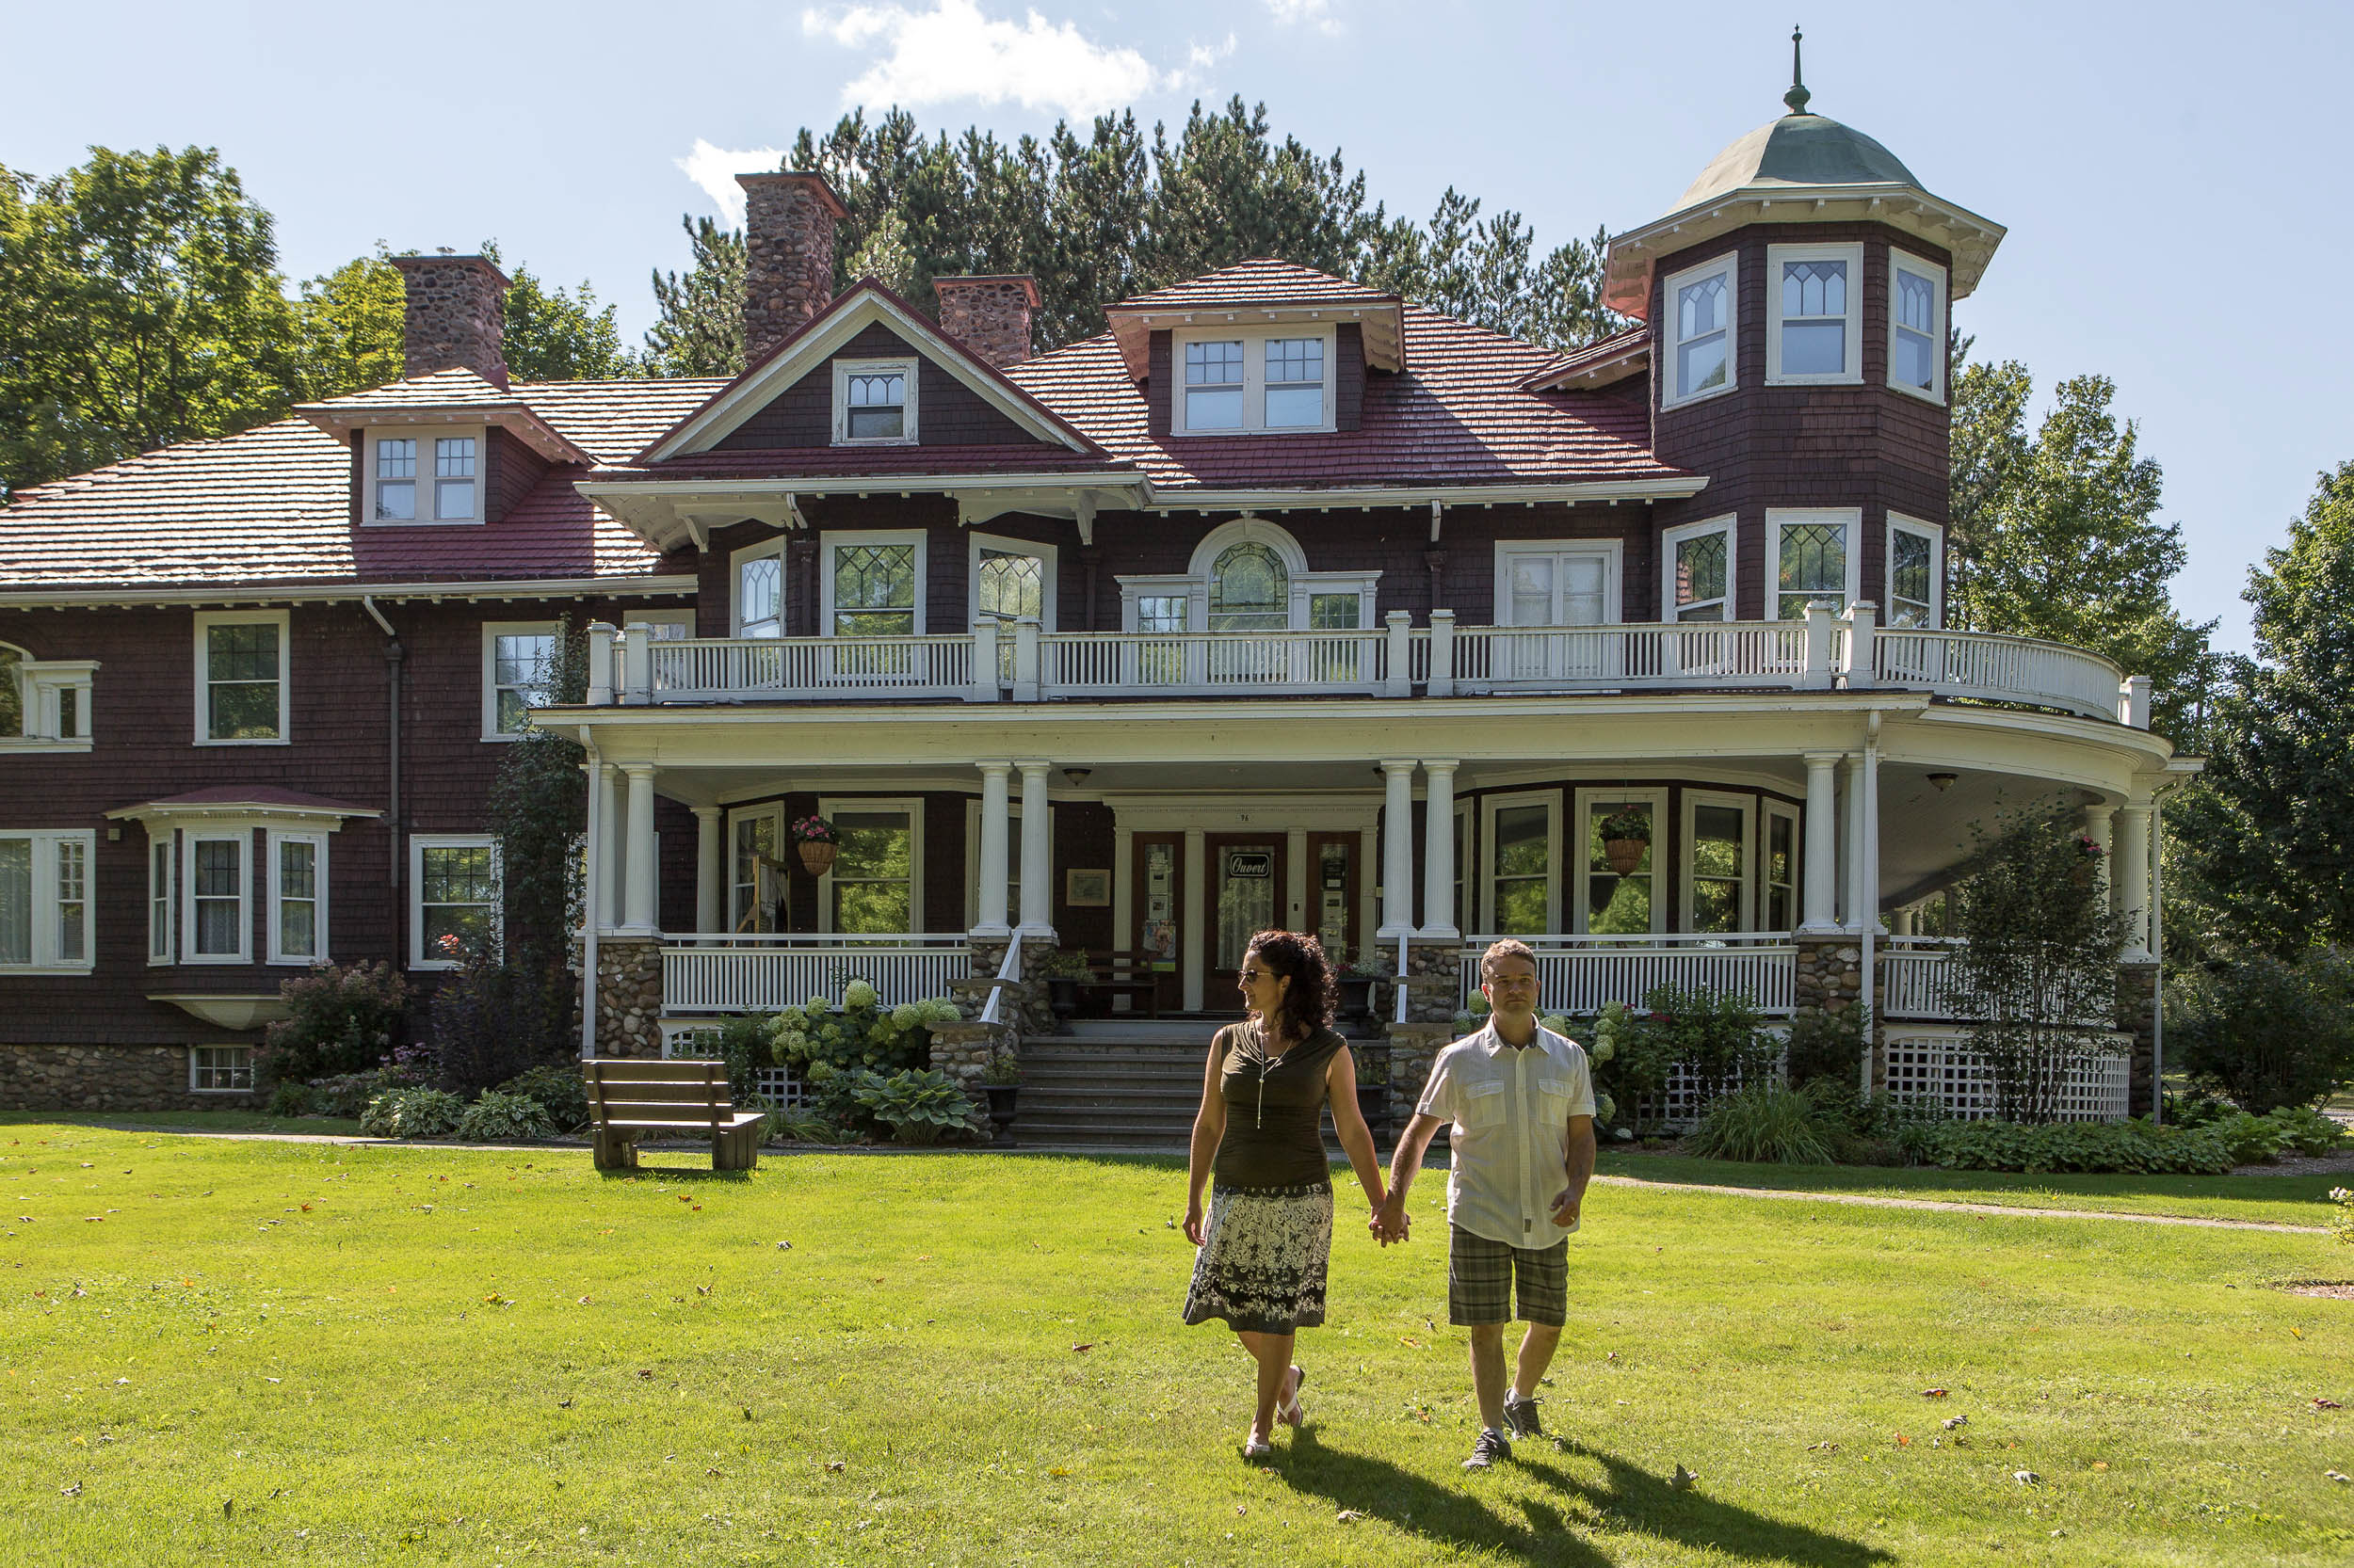
POLYGON ((1153 71, 1135 49, 1097 45, 1069 21, 1050 24, 1038 12, 1024 12, 1022 21, 993 19, 977 0, 932 0, 927 12, 904 5, 807 9, 800 31, 845 49, 883 52, 843 87, 843 106, 975 99, 1085 120, 1177 82, 1177 73, 1153 71))

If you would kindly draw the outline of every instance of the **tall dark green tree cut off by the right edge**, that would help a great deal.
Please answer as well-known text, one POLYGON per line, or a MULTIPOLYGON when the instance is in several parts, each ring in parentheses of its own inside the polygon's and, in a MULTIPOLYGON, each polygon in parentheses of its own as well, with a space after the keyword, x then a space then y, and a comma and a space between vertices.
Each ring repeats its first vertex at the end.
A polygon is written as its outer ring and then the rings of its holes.
POLYGON ((2189 951, 2354 951, 2354 461, 2319 476, 2243 598, 2255 657, 2232 662, 2206 772, 2166 812, 2168 932, 2189 951))

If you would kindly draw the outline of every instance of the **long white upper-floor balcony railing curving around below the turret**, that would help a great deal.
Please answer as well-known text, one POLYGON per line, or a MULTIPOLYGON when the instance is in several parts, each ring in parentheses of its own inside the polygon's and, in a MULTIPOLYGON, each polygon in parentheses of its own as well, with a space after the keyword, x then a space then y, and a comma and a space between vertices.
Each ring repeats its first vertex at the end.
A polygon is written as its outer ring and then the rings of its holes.
POLYGON ((1871 605, 1834 619, 1641 626, 1410 626, 1358 631, 1043 631, 885 638, 683 638, 596 624, 588 704, 1057 702, 1118 697, 1483 697, 1627 690, 1928 690, 2149 727, 2149 685, 2100 655, 1975 631, 1881 631, 1871 605))

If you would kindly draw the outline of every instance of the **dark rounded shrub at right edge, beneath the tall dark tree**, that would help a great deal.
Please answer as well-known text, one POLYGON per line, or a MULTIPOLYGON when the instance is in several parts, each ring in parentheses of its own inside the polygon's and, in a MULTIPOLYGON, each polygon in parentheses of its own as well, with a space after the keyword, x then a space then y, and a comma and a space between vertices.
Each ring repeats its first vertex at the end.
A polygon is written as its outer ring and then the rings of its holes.
POLYGON ((2166 1055, 2196 1083, 2262 1116, 2354 1083, 2354 963, 2239 954, 2168 991, 2166 1055))

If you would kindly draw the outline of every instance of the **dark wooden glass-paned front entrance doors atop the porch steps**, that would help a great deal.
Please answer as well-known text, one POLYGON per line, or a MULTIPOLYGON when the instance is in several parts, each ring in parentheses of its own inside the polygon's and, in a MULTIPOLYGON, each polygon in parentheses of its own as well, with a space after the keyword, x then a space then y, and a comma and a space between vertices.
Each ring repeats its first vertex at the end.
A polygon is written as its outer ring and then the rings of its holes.
POLYGON ((1184 975, 1198 958, 1203 1010, 1238 1012, 1243 951, 1271 928, 1304 925, 1316 932, 1332 963, 1342 963, 1361 942, 1361 857, 1358 833, 1309 833, 1304 888, 1295 897, 1290 833, 1203 833, 1203 951, 1191 954, 1184 833, 1137 833, 1130 949, 1161 979, 1161 1005, 1184 1005, 1184 975))

